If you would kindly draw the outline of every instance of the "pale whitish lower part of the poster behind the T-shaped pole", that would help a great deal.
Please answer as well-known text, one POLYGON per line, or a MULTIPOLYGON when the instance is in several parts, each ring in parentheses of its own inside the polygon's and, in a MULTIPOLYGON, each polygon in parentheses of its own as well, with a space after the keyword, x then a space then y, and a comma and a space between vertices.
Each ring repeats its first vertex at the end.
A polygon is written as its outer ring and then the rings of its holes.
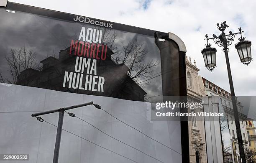
MULTIPOLYGON (((106 112, 93 106, 70 110, 76 116, 100 130, 163 162, 181 163, 181 135, 179 122, 151 122, 151 104, 110 97, 58 92, 47 89, 0 84, 1 111, 46 111, 93 101, 104 110, 120 118, 141 132, 169 146, 147 138, 124 125, 106 112)), ((58 113, 43 116, 57 125, 58 113)), ((65 114, 63 128, 98 145, 113 150, 140 163, 156 163, 147 155, 124 145, 81 120, 65 114)), ((56 127, 39 122, 26 113, 0 114, 0 153, 29 154, 27 163, 50 163, 54 153, 56 127)), ((9 161, 5 161, 9 163, 9 161)), ((65 131, 62 132, 59 163, 131 163, 115 153, 100 148, 65 131)))

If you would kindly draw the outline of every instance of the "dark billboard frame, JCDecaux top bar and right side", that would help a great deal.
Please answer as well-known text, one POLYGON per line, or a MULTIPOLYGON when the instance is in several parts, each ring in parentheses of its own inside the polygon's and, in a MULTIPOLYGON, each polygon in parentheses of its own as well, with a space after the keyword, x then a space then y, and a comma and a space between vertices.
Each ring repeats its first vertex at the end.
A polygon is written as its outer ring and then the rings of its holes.
MULTIPOLYGON (((78 17, 83 17, 89 18, 90 20, 96 20, 100 22, 105 22, 112 24, 111 27, 115 30, 120 30, 120 31, 127 31, 131 33, 138 33, 141 35, 147 35, 147 36, 153 36, 156 39, 156 31, 146 29, 146 28, 139 28, 131 25, 124 25, 121 23, 114 23, 106 20, 100 20, 100 19, 95 19, 95 18, 90 18, 90 17, 85 17, 82 15, 76 15, 76 14, 71 14, 71 13, 64 13, 60 11, 55 11, 55 10, 49 10, 49 9, 44 9, 44 8, 38 8, 38 7, 33 7, 30 5, 23 5, 19 3, 13 3, 13 2, 8 2, 8 0, 0 0, 0 7, 1 8, 7 8, 8 10, 16 10, 20 12, 25 12, 25 13, 32 13, 35 15, 42 15, 42 16, 47 16, 51 18, 57 18, 61 20, 66 20, 69 22, 75 22, 74 20, 78 17)), ((80 23, 80 22, 78 22, 80 23)), ((177 53, 175 53, 175 58, 178 61, 178 65, 176 67, 179 67, 179 73, 178 79, 169 79, 168 81, 176 81, 179 83, 179 87, 175 88, 177 92, 172 92, 174 88, 170 88, 166 86, 166 89, 170 90, 169 93, 164 94, 163 96, 187 96, 187 76, 186 76, 186 61, 185 61, 185 56, 186 56, 186 46, 184 42, 182 41, 181 38, 179 38, 177 35, 174 33, 164 33, 160 32, 161 34, 166 36, 166 41, 175 46, 175 48, 178 49, 177 53), (171 92, 171 93, 170 93, 171 92)), ((169 52, 172 52, 172 49, 169 49, 169 52)), ((169 55, 171 56, 171 55, 169 55)), ((163 86, 164 88, 164 86, 163 86)), ((168 91, 166 91, 168 92, 168 91)), ((188 163, 189 162, 189 128, 188 128, 188 121, 181 121, 181 149, 182 149, 182 163, 188 163)))

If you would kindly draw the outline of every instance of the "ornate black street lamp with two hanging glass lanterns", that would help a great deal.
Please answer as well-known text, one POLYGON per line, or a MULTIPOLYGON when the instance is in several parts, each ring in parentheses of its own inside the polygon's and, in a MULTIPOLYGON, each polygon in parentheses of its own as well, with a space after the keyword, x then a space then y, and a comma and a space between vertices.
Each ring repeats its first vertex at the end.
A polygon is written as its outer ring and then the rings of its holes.
POLYGON ((228 25, 226 25, 226 21, 219 24, 217 23, 218 29, 221 31, 220 36, 216 36, 213 34, 212 38, 208 38, 208 35, 205 35, 205 40, 207 41, 207 44, 205 45, 206 48, 201 51, 203 58, 205 60, 205 66, 207 69, 212 71, 216 66, 216 49, 212 48, 211 45, 208 43, 208 40, 213 40, 215 44, 218 46, 223 47, 223 52, 225 53, 226 63, 227 63, 227 69, 228 69, 228 79, 229 79, 229 85, 230 85, 230 91, 231 91, 231 99, 233 104, 233 110, 235 115, 235 122, 236 122, 236 133, 238 138, 238 145, 239 145, 239 151, 240 156, 242 158, 243 163, 246 163, 244 148, 243 148, 243 139, 241 134, 241 128, 240 128, 240 122, 238 117, 238 110, 237 110, 237 102, 236 102, 236 96, 234 92, 234 86, 233 86, 233 80, 230 70, 230 64, 228 59, 228 46, 232 44, 234 41, 234 38, 237 34, 241 35, 241 38, 239 38, 239 42, 236 43, 235 47, 237 49, 238 55, 240 57, 240 61, 243 64, 250 64, 252 58, 251 58, 251 41, 246 41, 244 37, 242 37, 242 29, 241 27, 238 28, 239 32, 232 33, 229 31, 229 34, 225 34, 224 31, 226 28, 228 28, 228 25))

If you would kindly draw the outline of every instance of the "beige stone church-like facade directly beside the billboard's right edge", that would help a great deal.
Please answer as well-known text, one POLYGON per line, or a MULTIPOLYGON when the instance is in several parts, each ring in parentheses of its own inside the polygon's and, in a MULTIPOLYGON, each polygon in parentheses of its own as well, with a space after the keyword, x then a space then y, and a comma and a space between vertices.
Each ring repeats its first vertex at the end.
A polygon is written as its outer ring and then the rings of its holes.
MULTIPOLYGON (((196 62, 191 62, 191 58, 186 57, 187 71, 187 101, 202 102, 205 96, 205 87, 202 77, 198 75, 200 69, 196 62)), ((189 110, 191 111, 191 110, 189 110)), ((194 112, 203 111, 202 108, 196 108, 194 112)), ((189 120, 189 160, 190 163, 207 163, 207 152, 205 144, 205 125, 204 117, 192 117, 189 120)))

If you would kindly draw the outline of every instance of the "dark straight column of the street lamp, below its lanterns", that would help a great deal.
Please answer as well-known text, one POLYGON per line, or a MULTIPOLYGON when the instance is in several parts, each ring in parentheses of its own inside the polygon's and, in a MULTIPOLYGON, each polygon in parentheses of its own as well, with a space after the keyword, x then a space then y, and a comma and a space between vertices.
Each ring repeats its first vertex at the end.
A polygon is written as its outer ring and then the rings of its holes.
POLYGON ((237 139, 238 139, 239 153, 240 153, 240 157, 242 158, 243 163, 246 163, 246 158, 245 158, 244 149, 243 149, 242 133, 241 133, 241 128, 240 128, 240 121, 239 121, 239 117, 238 117, 238 110, 237 110, 237 104, 236 104, 236 96, 235 96, 233 80, 232 80, 232 75, 231 75, 231 70, 230 70, 230 64, 229 64, 229 59, 228 59, 228 46, 227 46, 227 43, 225 43, 225 41, 223 41, 223 47, 224 47, 226 64, 227 64, 227 69, 228 69, 228 80, 229 80, 229 87, 230 87, 232 105, 233 105, 234 116, 235 116, 236 135, 237 135, 237 139))

